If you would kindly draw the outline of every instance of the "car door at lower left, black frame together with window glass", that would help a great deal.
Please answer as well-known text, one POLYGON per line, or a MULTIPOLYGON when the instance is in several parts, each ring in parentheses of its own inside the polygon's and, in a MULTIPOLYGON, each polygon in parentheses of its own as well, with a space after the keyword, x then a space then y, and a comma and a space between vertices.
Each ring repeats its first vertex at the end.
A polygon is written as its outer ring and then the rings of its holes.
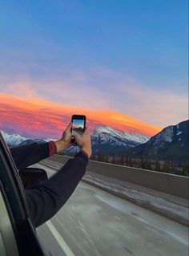
POLYGON ((41 256, 24 189, 0 132, 0 255, 41 256))

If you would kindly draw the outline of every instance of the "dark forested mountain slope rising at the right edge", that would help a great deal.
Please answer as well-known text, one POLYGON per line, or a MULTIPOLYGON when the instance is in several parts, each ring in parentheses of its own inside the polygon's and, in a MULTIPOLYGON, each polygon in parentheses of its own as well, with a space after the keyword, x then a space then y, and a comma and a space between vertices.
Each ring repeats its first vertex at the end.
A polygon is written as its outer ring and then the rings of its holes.
POLYGON ((127 154, 139 158, 188 161, 188 149, 189 120, 186 120, 164 128, 147 143, 130 149, 127 154))

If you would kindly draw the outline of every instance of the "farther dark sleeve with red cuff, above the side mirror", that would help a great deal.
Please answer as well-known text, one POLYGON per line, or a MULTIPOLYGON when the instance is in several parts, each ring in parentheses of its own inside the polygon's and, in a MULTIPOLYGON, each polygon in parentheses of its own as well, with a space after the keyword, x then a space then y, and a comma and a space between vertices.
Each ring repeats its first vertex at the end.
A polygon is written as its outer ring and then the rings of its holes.
POLYGON ((10 153, 13 156, 17 169, 22 169, 48 157, 49 144, 38 144, 34 142, 25 146, 10 148, 10 153))

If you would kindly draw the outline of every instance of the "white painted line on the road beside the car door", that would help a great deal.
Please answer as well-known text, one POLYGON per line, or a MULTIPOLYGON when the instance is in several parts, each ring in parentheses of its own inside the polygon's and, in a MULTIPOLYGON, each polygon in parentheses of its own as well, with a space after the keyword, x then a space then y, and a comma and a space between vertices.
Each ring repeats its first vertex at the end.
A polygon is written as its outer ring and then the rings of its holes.
POLYGON ((62 248, 62 250, 66 254, 66 256, 74 256, 74 253, 70 250, 70 247, 63 240, 61 234, 59 234, 58 230, 55 228, 53 223, 51 221, 46 221, 46 226, 50 229, 54 238, 58 242, 58 245, 62 248))

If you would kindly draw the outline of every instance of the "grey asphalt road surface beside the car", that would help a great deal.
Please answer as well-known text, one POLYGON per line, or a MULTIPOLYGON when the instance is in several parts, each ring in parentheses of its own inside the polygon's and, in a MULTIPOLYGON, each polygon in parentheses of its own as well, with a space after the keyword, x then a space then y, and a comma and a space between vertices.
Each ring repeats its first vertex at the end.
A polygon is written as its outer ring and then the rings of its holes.
POLYGON ((83 182, 37 232, 53 256, 188 255, 187 226, 83 182))

